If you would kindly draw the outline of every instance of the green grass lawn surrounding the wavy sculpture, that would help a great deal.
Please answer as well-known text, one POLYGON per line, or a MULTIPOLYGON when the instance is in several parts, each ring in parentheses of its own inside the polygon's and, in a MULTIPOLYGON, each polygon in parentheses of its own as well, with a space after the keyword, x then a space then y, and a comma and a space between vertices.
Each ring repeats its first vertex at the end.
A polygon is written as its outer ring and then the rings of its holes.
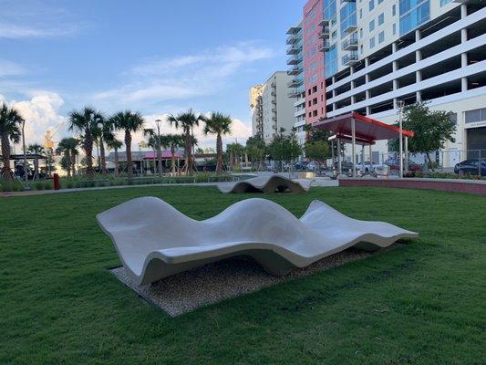
POLYGON ((365 260, 170 318, 107 271, 95 215, 152 195, 196 219, 250 196, 147 187, 0 199, 0 364, 484 364, 486 197, 376 188, 313 199, 420 238, 365 260))

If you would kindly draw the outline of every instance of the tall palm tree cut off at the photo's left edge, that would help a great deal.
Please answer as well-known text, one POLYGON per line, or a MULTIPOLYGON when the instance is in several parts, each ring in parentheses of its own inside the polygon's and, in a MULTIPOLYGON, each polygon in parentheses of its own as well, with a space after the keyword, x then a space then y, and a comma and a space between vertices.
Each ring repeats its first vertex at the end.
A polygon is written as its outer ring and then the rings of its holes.
POLYGON ((22 135, 21 124, 24 122, 20 113, 14 108, 2 103, 0 107, 0 142, 2 143, 2 159, 4 166, 2 175, 6 181, 12 181, 12 170, 10 169, 10 141, 20 142, 22 135))

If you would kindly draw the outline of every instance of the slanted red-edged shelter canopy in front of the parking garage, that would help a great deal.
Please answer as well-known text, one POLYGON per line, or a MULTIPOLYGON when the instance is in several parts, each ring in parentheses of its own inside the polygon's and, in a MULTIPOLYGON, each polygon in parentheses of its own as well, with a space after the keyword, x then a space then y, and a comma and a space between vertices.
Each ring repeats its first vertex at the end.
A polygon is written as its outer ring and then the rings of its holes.
MULTIPOLYGON (((368 144, 380 140, 393 140, 399 138, 398 127, 374 120, 358 113, 349 113, 328 120, 316 121, 313 126, 321 130, 330 130, 336 133, 337 138, 348 140, 351 137, 351 121, 355 120, 356 138, 368 144)), ((402 130, 405 137, 414 136, 411 130, 402 130)))

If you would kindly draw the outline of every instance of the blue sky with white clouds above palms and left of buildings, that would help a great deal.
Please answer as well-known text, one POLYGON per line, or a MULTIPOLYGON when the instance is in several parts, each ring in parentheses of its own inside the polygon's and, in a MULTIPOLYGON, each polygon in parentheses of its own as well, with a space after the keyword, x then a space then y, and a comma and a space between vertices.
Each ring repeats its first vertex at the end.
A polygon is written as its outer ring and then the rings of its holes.
MULTIPOLYGON (((70 135, 69 111, 192 108, 232 116, 251 135, 249 89, 287 68, 285 32, 305 0, 0 0, 0 102, 26 119, 27 143, 70 135)), ((164 132, 172 131, 167 125, 164 132)), ((197 132, 201 147, 214 139, 197 132)), ((135 143, 141 136, 136 136, 135 143)))

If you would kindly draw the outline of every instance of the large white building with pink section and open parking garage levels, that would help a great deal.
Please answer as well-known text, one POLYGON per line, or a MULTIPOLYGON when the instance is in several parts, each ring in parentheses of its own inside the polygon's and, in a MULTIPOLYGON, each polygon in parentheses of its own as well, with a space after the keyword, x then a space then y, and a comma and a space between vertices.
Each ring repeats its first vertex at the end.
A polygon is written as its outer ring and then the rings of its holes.
POLYGON ((307 123, 350 111, 394 123, 399 102, 428 100, 454 113, 446 149, 486 149, 484 0, 309 0, 303 45, 307 123))

